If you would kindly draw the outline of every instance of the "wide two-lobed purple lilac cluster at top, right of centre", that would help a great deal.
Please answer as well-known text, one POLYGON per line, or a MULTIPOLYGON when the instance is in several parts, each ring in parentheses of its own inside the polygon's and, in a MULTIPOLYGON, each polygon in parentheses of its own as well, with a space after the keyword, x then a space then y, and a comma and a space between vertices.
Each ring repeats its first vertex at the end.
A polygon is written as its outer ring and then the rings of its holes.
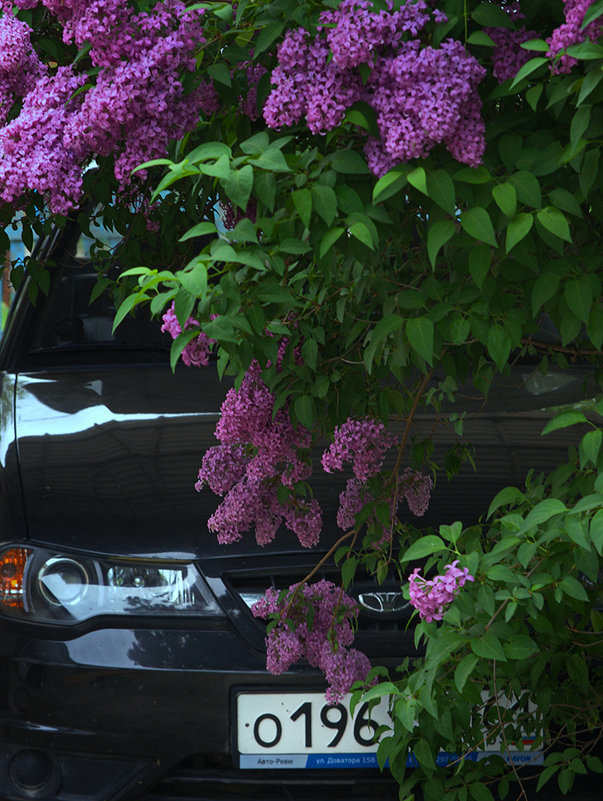
POLYGON ((350 105, 365 100, 377 113, 380 132, 365 147, 375 174, 425 157, 438 143, 458 161, 477 166, 485 149, 477 86, 485 70, 460 42, 422 45, 416 37, 427 22, 445 19, 424 0, 397 11, 388 6, 375 11, 368 0, 344 0, 323 12, 325 27, 316 37, 301 28, 289 31, 278 48, 266 123, 278 129, 305 116, 313 133, 324 133, 341 123, 350 105), (372 68, 366 85, 362 64, 372 68))

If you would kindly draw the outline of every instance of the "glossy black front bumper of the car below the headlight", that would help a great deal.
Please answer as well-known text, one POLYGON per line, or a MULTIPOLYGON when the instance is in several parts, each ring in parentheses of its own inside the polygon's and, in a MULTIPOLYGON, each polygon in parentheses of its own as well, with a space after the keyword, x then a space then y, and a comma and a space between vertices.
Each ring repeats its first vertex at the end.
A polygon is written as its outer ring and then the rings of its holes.
POLYGON ((374 801, 375 781, 380 798, 397 797, 373 770, 238 769, 237 691, 325 685, 310 668, 271 676, 265 654, 233 631, 103 628, 49 639, 3 630, 0 655, 7 801, 297 801, 321 790, 374 801))

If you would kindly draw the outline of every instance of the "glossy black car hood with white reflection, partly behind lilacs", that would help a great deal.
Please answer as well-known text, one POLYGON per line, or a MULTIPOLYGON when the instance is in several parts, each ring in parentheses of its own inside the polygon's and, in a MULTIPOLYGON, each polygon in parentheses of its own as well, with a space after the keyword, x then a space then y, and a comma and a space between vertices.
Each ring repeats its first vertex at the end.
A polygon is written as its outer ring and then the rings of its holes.
MULTIPOLYGON (((439 478, 428 513, 414 525, 475 522, 494 494, 521 485, 530 468, 553 469, 565 458, 573 430, 541 437, 558 406, 576 394, 583 376, 555 390, 525 391, 517 376, 484 407, 470 399, 464 438, 475 446, 477 472, 466 464, 451 481, 439 478), (572 386, 574 389, 572 389, 572 386)), ((57 369, 18 376, 15 429, 29 536, 40 543, 94 553, 171 558, 256 553, 253 532, 219 546, 207 519, 219 498, 194 489, 202 455, 216 445, 218 410, 227 385, 216 371, 165 364, 139 367, 57 369)), ((434 415, 416 421, 414 436, 428 437, 434 415)), ((456 442, 440 425, 433 460, 456 442)), ((342 534, 335 523, 346 476, 325 474, 315 459, 312 479, 323 509, 324 550, 342 534)), ((280 531, 266 551, 299 551, 295 537, 280 531)))

